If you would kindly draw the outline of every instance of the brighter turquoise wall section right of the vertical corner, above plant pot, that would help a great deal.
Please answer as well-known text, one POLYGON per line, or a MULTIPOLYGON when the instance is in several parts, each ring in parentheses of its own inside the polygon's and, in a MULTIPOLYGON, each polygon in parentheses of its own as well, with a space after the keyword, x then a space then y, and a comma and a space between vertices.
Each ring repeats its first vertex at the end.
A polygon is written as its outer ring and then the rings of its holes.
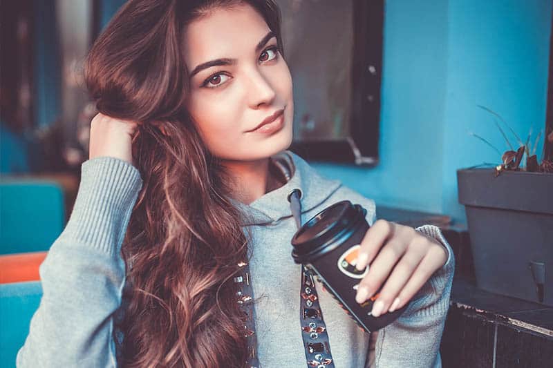
MULTIPOLYGON (((475 106, 499 113, 523 142, 530 128, 534 137, 545 128, 553 9, 550 0, 456 0, 449 4, 442 209, 464 217, 452 169, 500 162, 496 151, 467 132, 485 137, 501 152, 509 149, 491 115, 475 106)), ((516 139, 510 140, 518 148, 516 139)), ((543 136, 538 147, 541 160, 543 136)))

